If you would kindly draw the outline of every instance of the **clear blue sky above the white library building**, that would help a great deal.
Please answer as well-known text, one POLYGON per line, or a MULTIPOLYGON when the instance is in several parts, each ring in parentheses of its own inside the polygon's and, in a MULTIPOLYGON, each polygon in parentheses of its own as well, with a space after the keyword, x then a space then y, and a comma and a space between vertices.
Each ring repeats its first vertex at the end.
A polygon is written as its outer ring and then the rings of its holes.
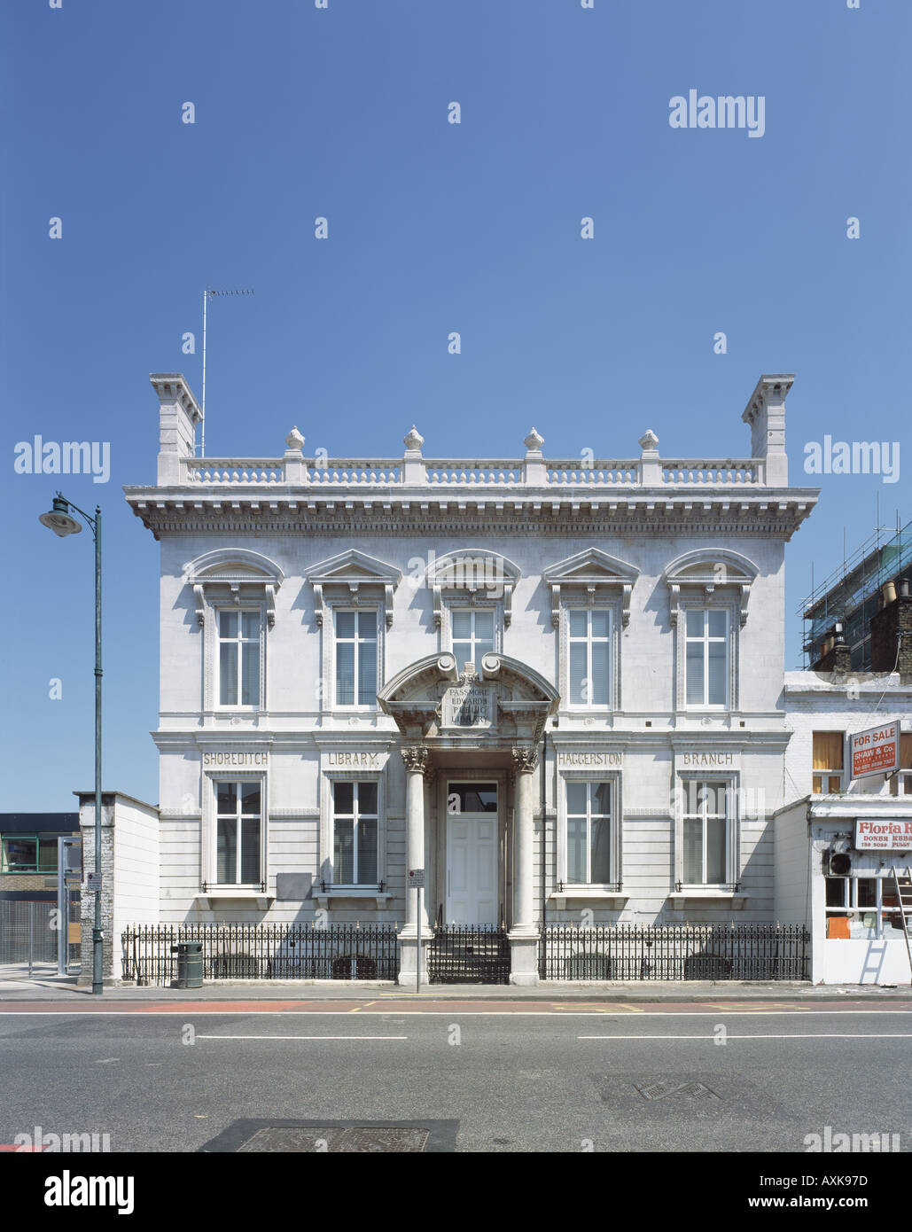
POLYGON ((906 0, 33 0, 0 34, 0 808, 92 784, 91 541, 39 526, 58 483, 104 509, 105 785, 158 798, 158 545, 121 485, 154 480, 148 373, 200 395, 207 283, 255 291, 211 306, 208 455, 297 424, 307 453, 394 456, 414 421, 435 456, 519 456, 532 424, 551 456, 636 456, 646 428, 747 456, 757 377, 795 372, 791 482, 823 492, 788 667, 811 562, 871 533, 877 492, 910 516, 903 472, 802 472, 823 434, 912 448, 906 0), (763 137, 673 129, 691 87, 762 95, 763 137), (108 482, 15 473, 36 432, 108 441, 108 482))

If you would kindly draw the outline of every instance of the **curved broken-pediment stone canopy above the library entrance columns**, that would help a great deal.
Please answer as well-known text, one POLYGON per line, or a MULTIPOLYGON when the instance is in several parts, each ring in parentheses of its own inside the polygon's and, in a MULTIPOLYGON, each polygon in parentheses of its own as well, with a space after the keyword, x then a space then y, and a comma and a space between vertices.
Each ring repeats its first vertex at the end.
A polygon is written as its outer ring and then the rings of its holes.
POLYGON ((430 748, 509 749, 537 744, 560 694, 532 668, 507 654, 486 654, 482 671, 455 655, 430 654, 381 689, 377 700, 410 742, 430 748))

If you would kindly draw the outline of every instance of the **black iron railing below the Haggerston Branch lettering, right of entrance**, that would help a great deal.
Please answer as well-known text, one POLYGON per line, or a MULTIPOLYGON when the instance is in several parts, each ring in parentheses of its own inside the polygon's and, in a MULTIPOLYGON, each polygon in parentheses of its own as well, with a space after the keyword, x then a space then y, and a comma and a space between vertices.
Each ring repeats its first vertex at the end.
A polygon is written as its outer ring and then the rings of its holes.
POLYGON ((807 979, 800 924, 550 924, 542 979, 807 979))

